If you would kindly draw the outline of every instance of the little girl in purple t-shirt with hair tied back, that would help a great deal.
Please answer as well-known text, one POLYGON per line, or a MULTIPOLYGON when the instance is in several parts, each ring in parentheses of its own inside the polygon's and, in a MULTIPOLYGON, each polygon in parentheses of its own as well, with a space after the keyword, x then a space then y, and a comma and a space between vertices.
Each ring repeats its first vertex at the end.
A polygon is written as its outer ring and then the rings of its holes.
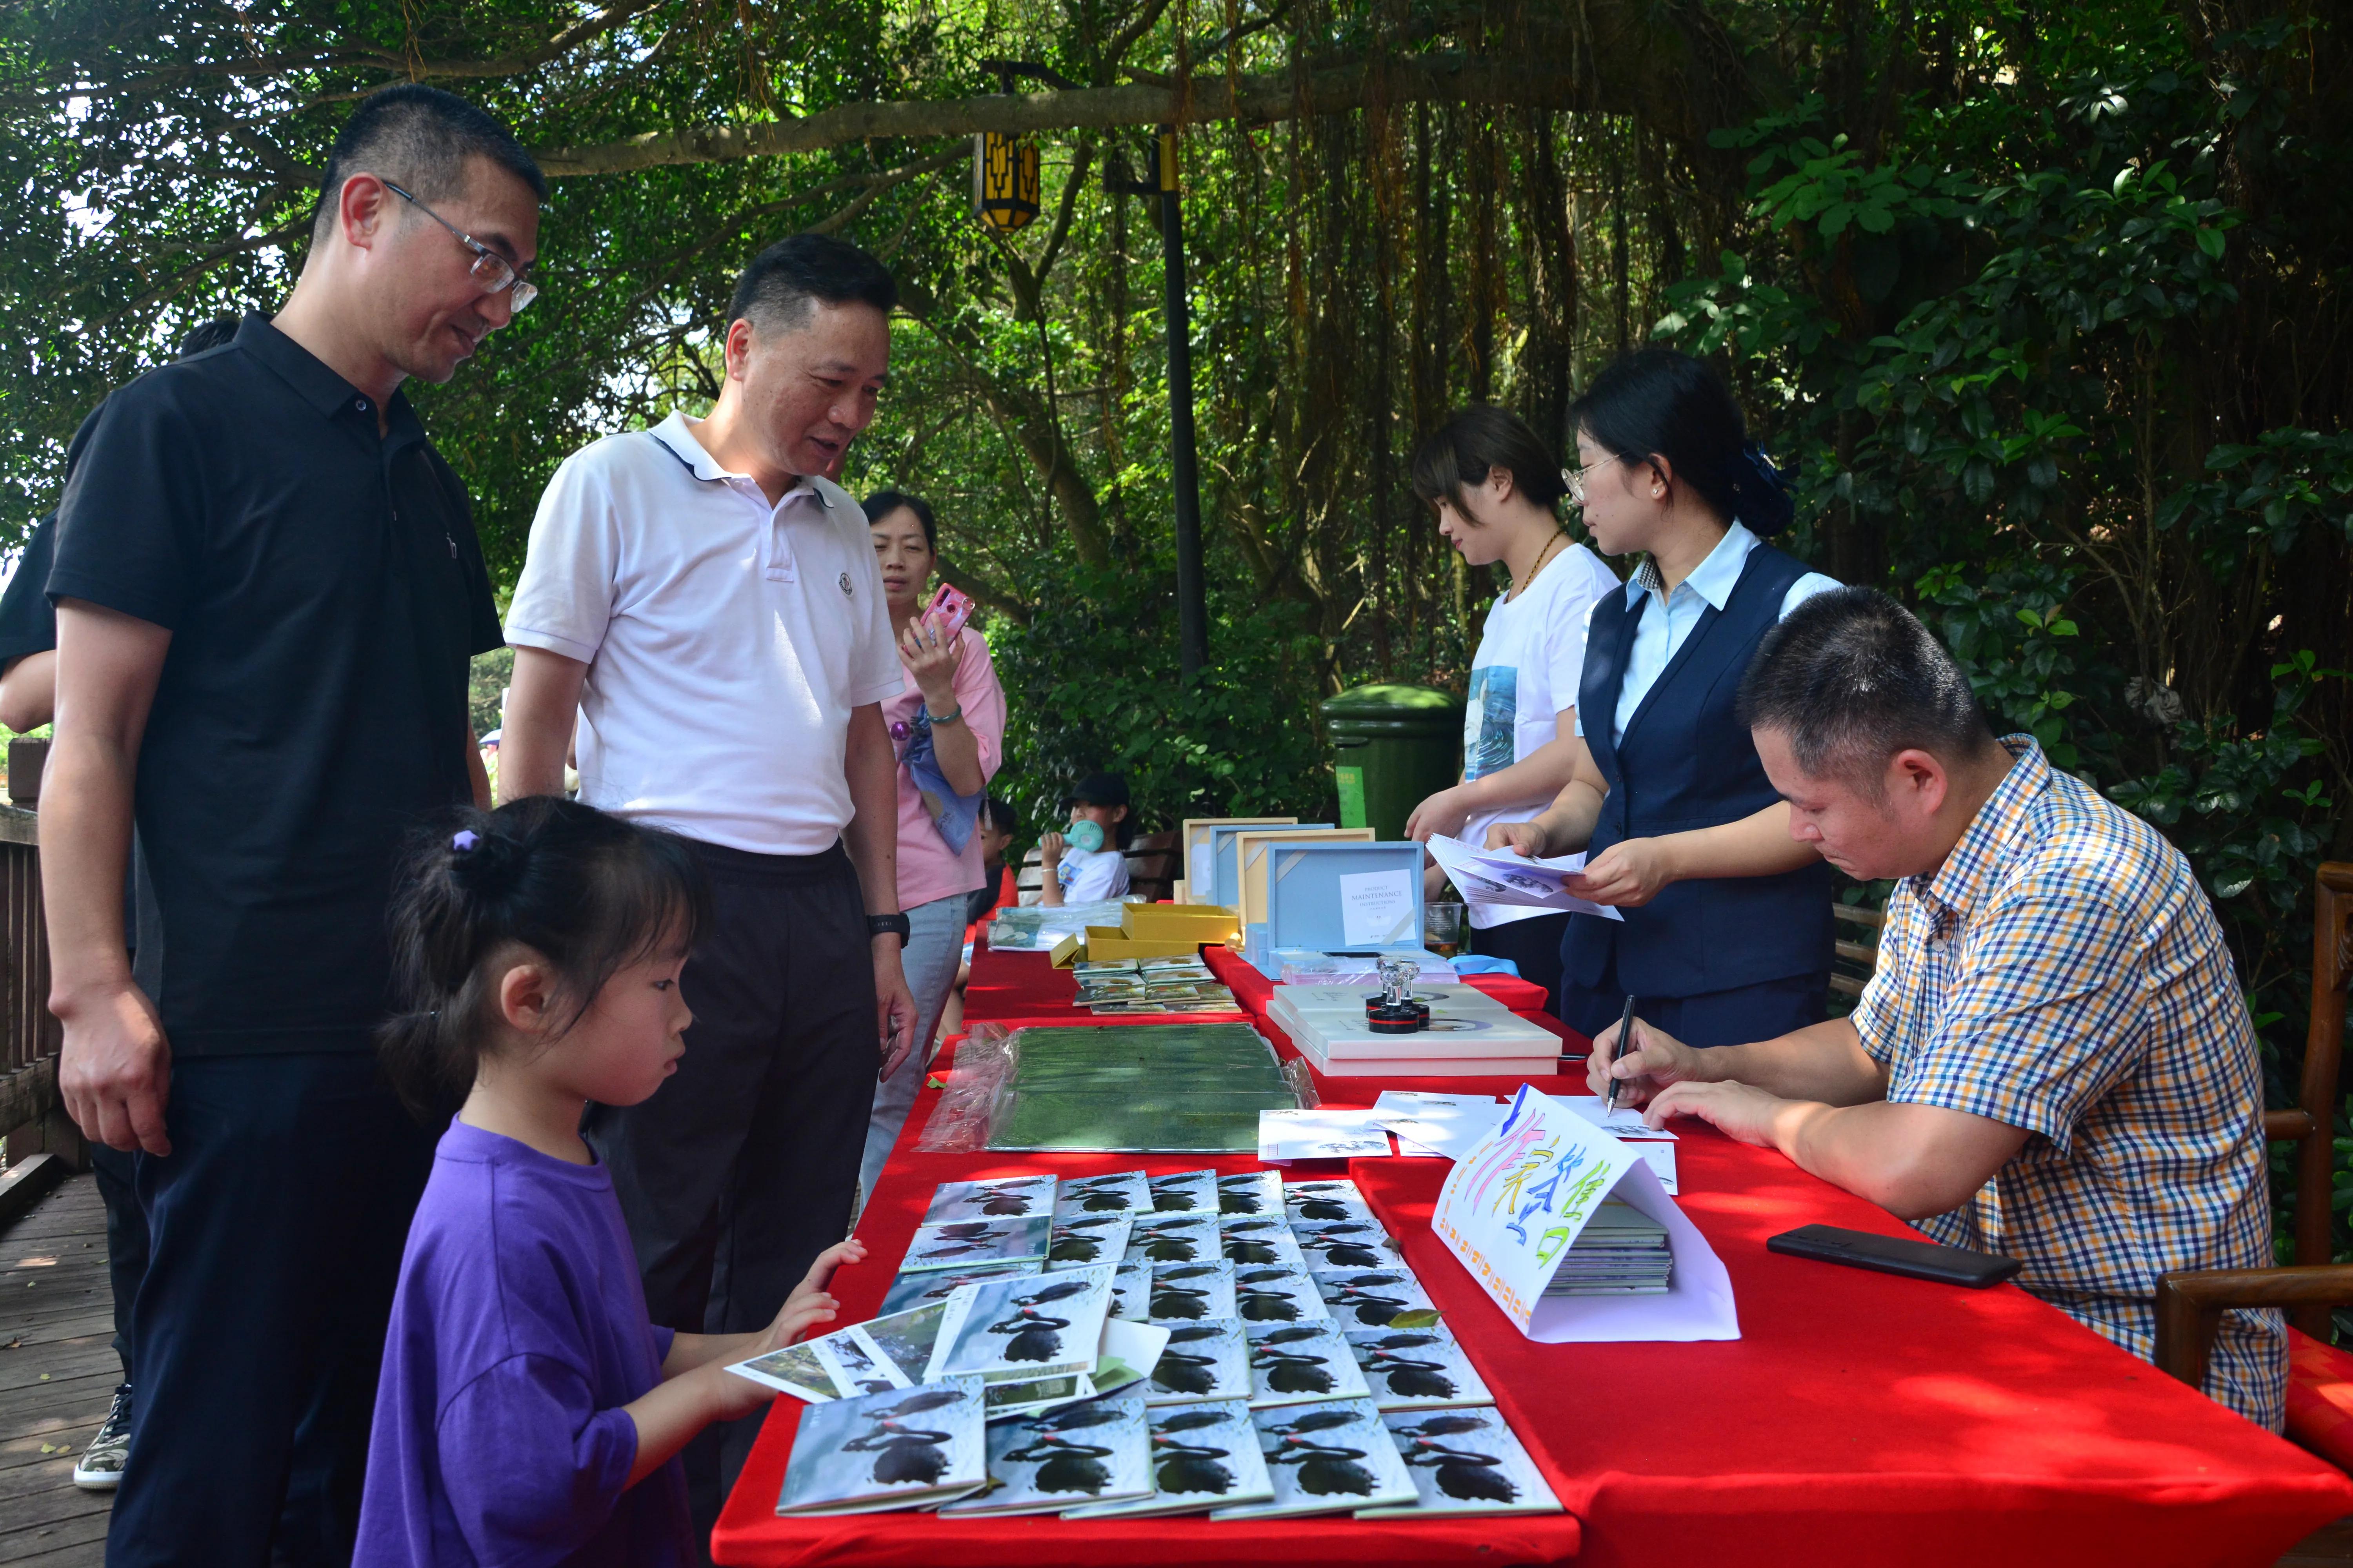
POLYGON ((685 1566, 678 1450, 774 1394, 729 1361, 831 1321, 816 1258, 765 1333, 645 1314, 581 1107, 635 1105, 678 1067, 678 971, 708 896, 680 839, 534 797, 435 839, 395 910, 407 1006, 384 1065, 447 1114, 409 1227, 376 1385, 360 1568, 685 1566))

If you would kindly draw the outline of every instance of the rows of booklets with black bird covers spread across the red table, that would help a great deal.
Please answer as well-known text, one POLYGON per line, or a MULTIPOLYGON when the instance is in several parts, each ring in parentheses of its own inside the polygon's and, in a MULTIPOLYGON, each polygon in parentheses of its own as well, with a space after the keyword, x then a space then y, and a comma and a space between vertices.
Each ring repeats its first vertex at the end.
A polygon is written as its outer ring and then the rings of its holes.
POLYGON ((809 1401, 779 1514, 1560 1509, 1346 1180, 948 1182, 882 1309, 732 1368, 809 1401))

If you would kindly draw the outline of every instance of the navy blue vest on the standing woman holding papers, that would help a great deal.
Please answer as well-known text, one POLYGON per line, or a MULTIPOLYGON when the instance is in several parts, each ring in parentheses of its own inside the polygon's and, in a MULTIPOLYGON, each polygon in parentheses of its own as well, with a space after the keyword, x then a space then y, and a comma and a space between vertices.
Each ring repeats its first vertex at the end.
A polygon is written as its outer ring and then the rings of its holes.
MULTIPOLYGON (((1586 672, 1577 691, 1586 748, 1609 780, 1591 851, 1689 827, 1718 827, 1774 804, 1758 748, 1734 715, 1741 675, 1781 618, 1781 599, 1807 567, 1760 543, 1722 611, 1699 611, 1657 684, 1612 741, 1633 630, 1654 595, 1628 614, 1626 595, 1593 607, 1586 672)), ((1661 611, 1664 614, 1664 611, 1661 611)), ((1638 997, 1704 997, 1737 985, 1831 973, 1831 867, 1779 877, 1678 882, 1626 922, 1572 914, 1560 943, 1562 976, 1600 985, 1612 952, 1617 985, 1638 997)))

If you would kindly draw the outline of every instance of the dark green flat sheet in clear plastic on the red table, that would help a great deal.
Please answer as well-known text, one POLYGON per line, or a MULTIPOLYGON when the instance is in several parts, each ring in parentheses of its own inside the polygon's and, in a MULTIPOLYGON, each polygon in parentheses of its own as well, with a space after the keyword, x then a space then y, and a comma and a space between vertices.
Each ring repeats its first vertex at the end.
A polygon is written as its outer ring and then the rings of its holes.
POLYGON ((1259 1112, 1299 1105, 1247 1023, 1045 1025, 1007 1051, 991 1150, 1249 1154, 1259 1112))

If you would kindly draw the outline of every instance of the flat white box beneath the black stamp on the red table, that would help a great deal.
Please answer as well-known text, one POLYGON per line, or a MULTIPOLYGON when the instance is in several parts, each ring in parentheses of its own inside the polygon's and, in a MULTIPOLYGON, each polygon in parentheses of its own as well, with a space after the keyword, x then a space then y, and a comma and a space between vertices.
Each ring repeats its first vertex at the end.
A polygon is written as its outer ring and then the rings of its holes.
POLYGON ((1560 1037, 1520 1018, 1471 985, 1421 985, 1431 1009, 1412 1034, 1374 1030, 1365 999, 1377 985, 1278 985, 1266 1009, 1327 1077, 1548 1077, 1560 1070, 1560 1037))

